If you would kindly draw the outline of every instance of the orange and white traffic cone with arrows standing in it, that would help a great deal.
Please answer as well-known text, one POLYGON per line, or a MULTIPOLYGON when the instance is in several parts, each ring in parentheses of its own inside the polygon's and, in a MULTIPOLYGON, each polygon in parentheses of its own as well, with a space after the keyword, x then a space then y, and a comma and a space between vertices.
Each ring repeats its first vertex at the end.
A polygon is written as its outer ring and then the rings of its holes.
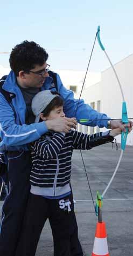
POLYGON ((92 256, 109 256, 106 224, 104 222, 96 224, 92 256))

